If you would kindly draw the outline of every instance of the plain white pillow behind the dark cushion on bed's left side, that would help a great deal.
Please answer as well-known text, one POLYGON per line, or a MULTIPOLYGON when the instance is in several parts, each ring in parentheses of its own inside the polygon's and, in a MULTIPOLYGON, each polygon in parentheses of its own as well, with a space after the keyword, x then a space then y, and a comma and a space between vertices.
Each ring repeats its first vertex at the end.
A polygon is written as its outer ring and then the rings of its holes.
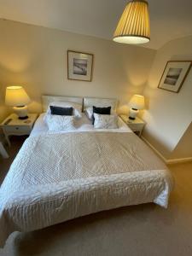
MULTIPOLYGON (((49 107, 50 106, 61 107, 61 108, 73 108, 73 115, 79 119, 82 117, 82 114, 81 114, 82 105, 81 104, 73 103, 73 102, 50 102, 49 107)), ((51 113, 49 107, 48 107, 46 113, 51 113)))

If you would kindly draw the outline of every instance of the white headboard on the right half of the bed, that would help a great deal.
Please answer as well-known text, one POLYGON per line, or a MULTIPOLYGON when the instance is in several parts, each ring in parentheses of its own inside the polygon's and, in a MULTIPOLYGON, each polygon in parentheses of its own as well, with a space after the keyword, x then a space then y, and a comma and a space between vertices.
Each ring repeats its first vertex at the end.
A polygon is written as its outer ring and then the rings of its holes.
POLYGON ((103 98, 84 98, 84 109, 92 106, 96 107, 108 107, 111 106, 116 111, 118 105, 117 99, 103 99, 103 98))

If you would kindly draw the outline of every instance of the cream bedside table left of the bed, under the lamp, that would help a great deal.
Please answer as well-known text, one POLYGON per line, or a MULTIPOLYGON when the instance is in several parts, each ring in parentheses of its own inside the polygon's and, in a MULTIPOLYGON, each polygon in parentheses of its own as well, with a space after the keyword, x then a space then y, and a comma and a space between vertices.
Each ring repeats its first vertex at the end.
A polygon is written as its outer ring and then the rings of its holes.
POLYGON ((3 129, 4 136, 9 146, 9 136, 29 135, 31 133, 32 126, 34 125, 35 120, 38 118, 38 114, 29 113, 28 117, 28 119, 18 119, 18 116, 15 113, 11 113, 7 119, 3 120, 3 123, 0 126, 3 129), (5 125, 8 120, 9 123, 5 125))

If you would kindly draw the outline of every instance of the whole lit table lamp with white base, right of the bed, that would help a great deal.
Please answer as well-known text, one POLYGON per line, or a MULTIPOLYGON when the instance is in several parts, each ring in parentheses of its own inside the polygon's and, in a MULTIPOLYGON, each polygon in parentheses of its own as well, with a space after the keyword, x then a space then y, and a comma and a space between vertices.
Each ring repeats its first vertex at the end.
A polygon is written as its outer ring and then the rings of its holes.
POLYGON ((144 96, 134 95, 131 97, 131 101, 129 102, 130 111, 129 111, 129 119, 136 119, 137 113, 139 113, 140 109, 143 109, 145 106, 144 96))

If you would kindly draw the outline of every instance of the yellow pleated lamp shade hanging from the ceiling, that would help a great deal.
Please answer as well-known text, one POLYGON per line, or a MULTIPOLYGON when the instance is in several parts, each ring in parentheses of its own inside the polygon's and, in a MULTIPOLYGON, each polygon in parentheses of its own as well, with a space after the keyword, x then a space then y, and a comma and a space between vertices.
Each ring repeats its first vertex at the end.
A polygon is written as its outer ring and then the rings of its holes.
POLYGON ((113 41, 123 44, 144 44, 150 40, 148 2, 133 0, 127 3, 113 41))

